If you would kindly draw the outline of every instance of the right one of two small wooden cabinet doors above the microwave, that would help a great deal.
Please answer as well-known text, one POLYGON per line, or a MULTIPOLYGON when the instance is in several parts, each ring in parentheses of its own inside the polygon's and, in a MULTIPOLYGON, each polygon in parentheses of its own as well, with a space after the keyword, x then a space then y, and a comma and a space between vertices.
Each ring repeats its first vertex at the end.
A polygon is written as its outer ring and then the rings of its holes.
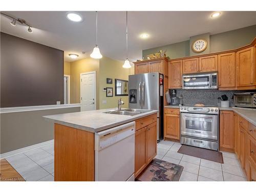
POLYGON ((199 57, 199 72, 210 72, 218 70, 218 56, 211 55, 199 57))

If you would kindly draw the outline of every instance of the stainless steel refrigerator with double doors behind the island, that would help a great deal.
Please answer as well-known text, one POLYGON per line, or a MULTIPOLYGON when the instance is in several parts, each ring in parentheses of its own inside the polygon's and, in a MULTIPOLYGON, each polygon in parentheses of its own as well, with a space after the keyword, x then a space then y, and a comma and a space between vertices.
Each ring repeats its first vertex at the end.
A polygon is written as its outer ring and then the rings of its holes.
POLYGON ((157 140, 163 138, 163 75, 129 75, 129 108, 158 110, 157 140))

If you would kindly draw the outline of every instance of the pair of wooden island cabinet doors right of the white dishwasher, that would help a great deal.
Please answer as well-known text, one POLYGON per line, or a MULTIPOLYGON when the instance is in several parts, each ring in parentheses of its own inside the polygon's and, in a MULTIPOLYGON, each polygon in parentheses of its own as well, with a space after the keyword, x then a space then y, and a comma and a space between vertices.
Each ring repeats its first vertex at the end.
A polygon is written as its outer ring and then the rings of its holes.
MULTIPOLYGON (((137 121, 140 122, 140 120, 137 121)), ((135 177, 142 172, 156 155, 157 122, 155 121, 135 132, 135 177)))

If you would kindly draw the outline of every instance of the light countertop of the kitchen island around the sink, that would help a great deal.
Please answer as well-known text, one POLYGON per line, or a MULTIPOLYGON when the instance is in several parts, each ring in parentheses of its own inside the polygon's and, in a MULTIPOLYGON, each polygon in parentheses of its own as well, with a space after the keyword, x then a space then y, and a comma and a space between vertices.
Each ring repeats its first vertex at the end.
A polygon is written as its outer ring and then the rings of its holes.
POLYGON ((142 113, 134 116, 103 113, 111 110, 116 110, 116 109, 83 111, 83 112, 76 112, 76 113, 48 115, 43 117, 50 121, 53 121, 54 123, 58 123, 58 124, 74 127, 76 129, 95 133, 95 132, 109 129, 117 125, 121 125, 123 123, 131 122, 136 119, 139 119, 148 115, 152 115, 158 112, 157 110, 152 110, 151 112, 146 112, 146 113, 142 113))

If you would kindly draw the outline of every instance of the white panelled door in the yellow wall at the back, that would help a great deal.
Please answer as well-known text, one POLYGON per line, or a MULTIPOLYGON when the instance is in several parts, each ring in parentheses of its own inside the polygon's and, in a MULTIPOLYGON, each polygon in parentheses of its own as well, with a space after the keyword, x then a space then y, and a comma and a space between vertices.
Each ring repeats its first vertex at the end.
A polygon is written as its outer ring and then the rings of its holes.
POLYGON ((96 110, 96 73, 81 74, 81 111, 96 110))

